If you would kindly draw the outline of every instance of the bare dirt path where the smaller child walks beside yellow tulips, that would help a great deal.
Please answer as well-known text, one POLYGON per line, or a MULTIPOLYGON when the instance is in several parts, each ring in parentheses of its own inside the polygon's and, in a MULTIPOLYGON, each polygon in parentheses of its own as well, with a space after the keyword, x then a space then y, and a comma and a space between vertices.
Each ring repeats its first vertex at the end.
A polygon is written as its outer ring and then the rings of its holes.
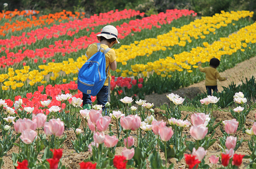
MULTIPOLYGON (((221 72, 220 75, 223 77, 227 76, 228 81, 217 81, 219 91, 223 90, 222 86, 228 87, 228 85, 230 85, 232 82, 234 82, 236 85, 240 85, 242 80, 245 81, 245 78, 250 79, 252 76, 256 76, 256 57, 252 57, 251 59, 241 62, 235 67, 221 72)), ((186 88, 173 91, 174 94, 179 94, 181 97, 186 96, 186 98, 189 99, 202 92, 206 92, 205 81, 194 83, 186 88)), ((154 103, 155 106, 160 106, 164 102, 170 102, 170 100, 166 97, 168 94, 169 93, 147 95, 145 100, 147 100, 149 103, 154 103)))

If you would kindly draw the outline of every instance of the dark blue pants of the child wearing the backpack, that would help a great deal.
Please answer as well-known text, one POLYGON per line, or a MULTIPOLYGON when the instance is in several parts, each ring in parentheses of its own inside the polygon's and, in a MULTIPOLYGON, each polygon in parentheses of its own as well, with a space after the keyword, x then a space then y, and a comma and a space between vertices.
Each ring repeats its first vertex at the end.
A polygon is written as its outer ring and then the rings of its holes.
MULTIPOLYGON (((97 104, 103 105, 102 111, 104 111, 105 109, 105 104, 107 103, 107 97, 108 97, 108 86, 103 86, 97 94, 97 104)), ((85 104, 92 105, 92 100, 91 100, 91 96, 83 93, 83 106, 85 104)))

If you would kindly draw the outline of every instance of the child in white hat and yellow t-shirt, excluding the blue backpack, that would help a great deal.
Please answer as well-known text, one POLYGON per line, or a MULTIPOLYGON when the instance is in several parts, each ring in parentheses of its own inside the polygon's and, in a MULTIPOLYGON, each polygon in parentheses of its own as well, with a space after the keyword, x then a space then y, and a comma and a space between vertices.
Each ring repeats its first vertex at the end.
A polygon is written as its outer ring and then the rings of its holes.
MULTIPOLYGON (((97 93, 97 104, 103 105, 102 107, 103 111, 105 109, 105 104, 108 101, 108 93, 110 92, 108 87, 110 86, 109 82, 111 81, 111 74, 110 74, 109 68, 113 71, 117 69, 117 62, 115 61, 117 57, 115 56, 115 51, 113 49, 109 49, 109 48, 112 48, 115 43, 120 43, 117 40, 117 35, 118 35, 118 31, 114 26, 111 26, 111 25, 105 26, 104 28, 102 28, 101 33, 96 35, 100 43, 92 43, 91 45, 89 45, 86 51, 87 60, 90 59, 94 54, 96 54, 99 51, 105 54, 105 61, 106 61, 105 72, 107 75, 107 79, 104 82, 104 86, 97 93)), ((83 108, 91 109, 91 106, 92 106, 91 96, 83 92, 83 108)))

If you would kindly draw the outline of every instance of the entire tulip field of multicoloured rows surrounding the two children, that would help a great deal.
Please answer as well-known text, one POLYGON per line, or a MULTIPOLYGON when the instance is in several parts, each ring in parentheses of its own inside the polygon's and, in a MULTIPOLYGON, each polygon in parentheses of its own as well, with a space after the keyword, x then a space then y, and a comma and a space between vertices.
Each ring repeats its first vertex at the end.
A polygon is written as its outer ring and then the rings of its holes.
POLYGON ((0 168, 256 168, 254 87, 200 95, 189 106, 172 93, 204 80, 197 62, 216 57, 222 72, 254 57, 252 16, 2 11, 0 168), (91 96, 92 109, 84 110, 78 69, 106 25, 120 41, 112 48, 111 101, 97 105, 91 96), (144 100, 165 92, 170 104, 160 108, 144 100))

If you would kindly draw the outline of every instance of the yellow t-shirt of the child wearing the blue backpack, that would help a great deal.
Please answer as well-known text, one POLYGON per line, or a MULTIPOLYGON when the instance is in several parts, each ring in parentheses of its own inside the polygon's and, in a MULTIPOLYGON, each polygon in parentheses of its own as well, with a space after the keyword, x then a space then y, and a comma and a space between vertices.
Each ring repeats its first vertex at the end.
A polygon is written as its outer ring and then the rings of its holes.
MULTIPOLYGON (((103 49, 107 49, 109 48, 109 46, 107 45, 103 45, 101 44, 100 45, 101 48, 103 49)), ((92 43, 87 51, 86 51, 86 57, 87 59, 89 59, 90 57, 92 57, 92 55, 94 55, 95 53, 97 53, 97 43, 92 43)), ((105 72, 107 72, 107 68, 109 67, 109 63, 112 63, 115 61, 115 59, 117 59, 117 57, 115 56, 115 51, 113 49, 110 49, 110 51, 108 53, 105 54, 105 57, 106 57, 106 70, 105 72)), ((108 75, 110 77, 110 81, 111 81, 111 73, 110 73, 110 67, 109 67, 109 72, 108 72, 108 75)), ((104 83, 104 86, 108 86, 109 85, 109 78, 107 78, 105 80, 105 83, 104 83)))

